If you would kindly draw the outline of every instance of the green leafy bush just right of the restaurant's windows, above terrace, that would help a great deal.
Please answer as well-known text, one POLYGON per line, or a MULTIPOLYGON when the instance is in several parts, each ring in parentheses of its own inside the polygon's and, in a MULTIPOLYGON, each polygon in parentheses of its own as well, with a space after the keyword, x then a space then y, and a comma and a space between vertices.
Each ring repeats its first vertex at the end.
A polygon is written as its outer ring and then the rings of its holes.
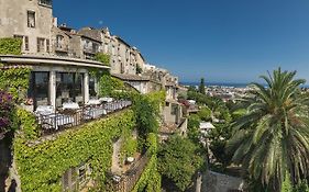
POLYGON ((100 78, 100 97, 111 97, 114 91, 121 91, 124 89, 124 84, 121 80, 111 77, 109 74, 104 74, 100 78))

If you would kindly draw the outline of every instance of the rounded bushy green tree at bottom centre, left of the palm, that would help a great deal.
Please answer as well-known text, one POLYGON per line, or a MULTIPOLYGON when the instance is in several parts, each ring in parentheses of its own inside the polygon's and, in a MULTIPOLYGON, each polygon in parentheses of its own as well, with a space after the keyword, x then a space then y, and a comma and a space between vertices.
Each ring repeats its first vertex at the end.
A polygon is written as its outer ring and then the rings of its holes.
POLYGON ((199 147, 178 135, 162 144, 157 157, 161 174, 172 180, 178 191, 190 187, 194 174, 203 162, 199 147))

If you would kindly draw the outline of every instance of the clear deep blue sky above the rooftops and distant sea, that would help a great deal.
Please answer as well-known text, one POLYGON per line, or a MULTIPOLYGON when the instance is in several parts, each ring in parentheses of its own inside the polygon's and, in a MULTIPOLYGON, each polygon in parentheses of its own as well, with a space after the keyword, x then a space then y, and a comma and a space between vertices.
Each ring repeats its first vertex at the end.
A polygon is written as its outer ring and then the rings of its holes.
MULTIPOLYGON (((282 67, 309 81, 308 0, 54 0, 58 24, 108 26, 183 82, 252 82, 282 67)), ((309 83, 309 82, 308 82, 309 83)))

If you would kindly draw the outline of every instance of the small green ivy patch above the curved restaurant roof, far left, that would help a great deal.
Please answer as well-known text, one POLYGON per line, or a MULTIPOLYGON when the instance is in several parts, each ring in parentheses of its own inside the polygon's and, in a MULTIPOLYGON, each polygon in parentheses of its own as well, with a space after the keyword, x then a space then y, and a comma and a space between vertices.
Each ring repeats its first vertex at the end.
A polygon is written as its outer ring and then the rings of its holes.
POLYGON ((21 46, 19 38, 0 38, 0 55, 21 55, 21 46))

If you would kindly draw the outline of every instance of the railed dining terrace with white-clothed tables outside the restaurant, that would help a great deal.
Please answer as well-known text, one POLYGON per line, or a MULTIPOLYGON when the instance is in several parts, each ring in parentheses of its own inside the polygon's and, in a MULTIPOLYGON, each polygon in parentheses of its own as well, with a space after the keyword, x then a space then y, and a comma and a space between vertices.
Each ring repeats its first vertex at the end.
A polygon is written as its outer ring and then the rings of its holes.
POLYGON ((37 124, 42 128, 42 135, 46 136, 66 128, 79 126, 84 123, 104 117, 110 113, 126 109, 132 104, 129 100, 92 101, 92 103, 81 108, 75 102, 67 102, 64 103, 63 109, 56 112, 53 112, 54 110, 51 105, 38 106, 34 113, 37 124))

